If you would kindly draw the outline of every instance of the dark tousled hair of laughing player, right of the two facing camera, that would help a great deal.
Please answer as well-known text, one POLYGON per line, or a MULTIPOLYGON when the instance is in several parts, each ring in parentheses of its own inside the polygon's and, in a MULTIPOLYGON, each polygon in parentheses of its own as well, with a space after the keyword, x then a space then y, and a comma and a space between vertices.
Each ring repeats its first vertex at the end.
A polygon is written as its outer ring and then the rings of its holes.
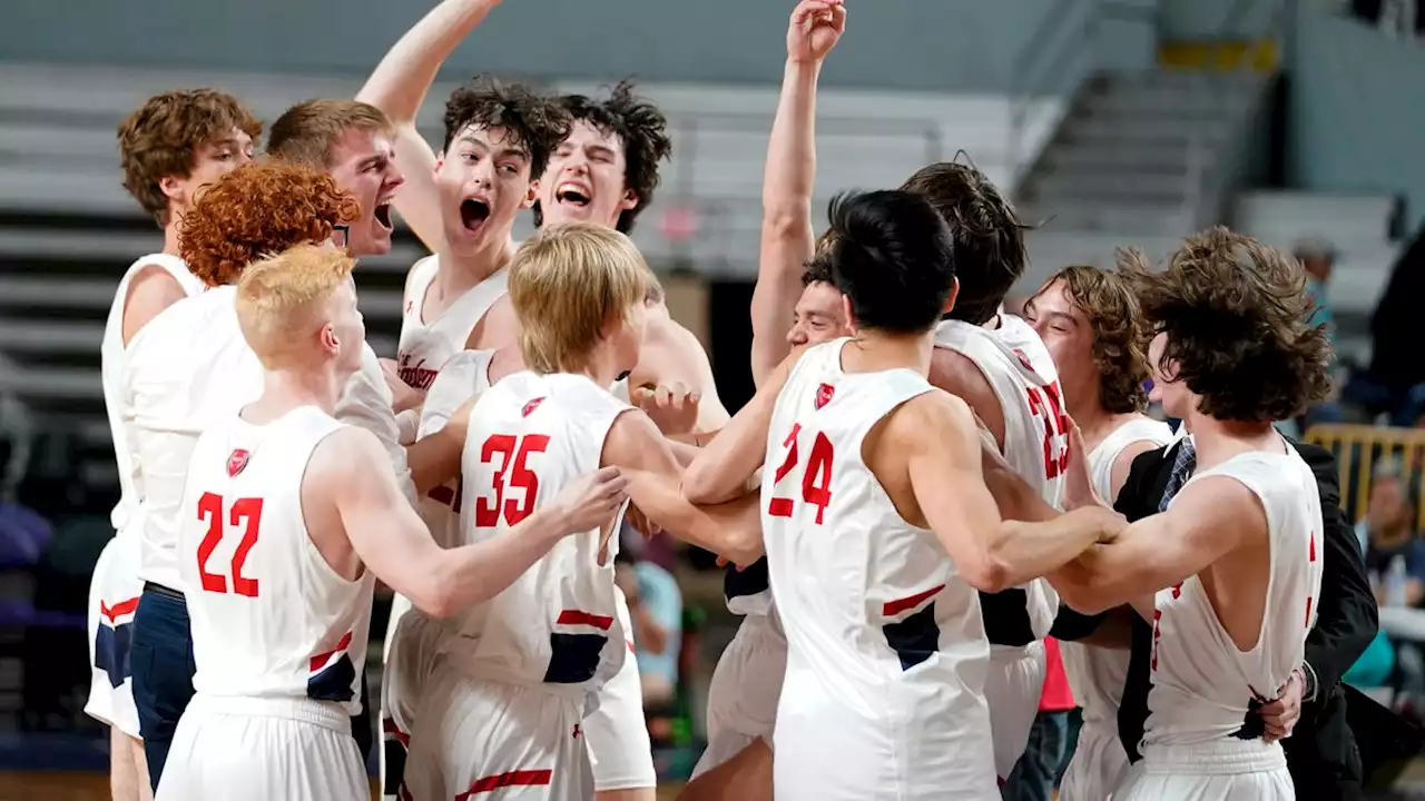
MULTIPOLYGON (((614 228, 621 234, 633 232, 638 214, 653 204, 653 191, 658 188, 658 162, 673 155, 668 118, 657 105, 634 94, 633 81, 618 81, 604 100, 566 94, 559 104, 573 121, 587 121, 604 134, 618 137, 623 144, 624 188, 637 195, 638 205, 618 214, 614 228)), ((534 225, 544 225, 544 212, 537 202, 533 211, 534 225)))

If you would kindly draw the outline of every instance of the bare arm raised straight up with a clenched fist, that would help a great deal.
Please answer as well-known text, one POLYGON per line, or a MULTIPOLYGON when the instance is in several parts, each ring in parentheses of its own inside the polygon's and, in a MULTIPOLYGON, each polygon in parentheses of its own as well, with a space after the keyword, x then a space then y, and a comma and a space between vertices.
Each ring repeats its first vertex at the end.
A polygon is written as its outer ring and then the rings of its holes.
POLYGON ((812 255, 812 188, 817 181, 817 78, 846 27, 839 0, 804 0, 787 29, 782 95, 762 172, 762 242, 752 289, 752 381, 787 356, 787 332, 801 295, 802 265, 812 255))

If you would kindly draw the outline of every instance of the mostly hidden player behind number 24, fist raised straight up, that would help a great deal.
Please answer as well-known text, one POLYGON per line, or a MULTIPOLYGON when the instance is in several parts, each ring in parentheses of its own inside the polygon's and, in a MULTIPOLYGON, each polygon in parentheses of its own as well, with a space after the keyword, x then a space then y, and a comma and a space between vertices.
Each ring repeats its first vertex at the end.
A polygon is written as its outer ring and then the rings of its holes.
MULTIPOLYGON (((839 0, 804 0, 792 11, 787 30, 787 66, 767 153, 761 258, 752 291, 752 376, 758 386, 789 346, 851 334, 828 262, 812 259, 811 222, 817 80, 845 21, 846 10, 839 0), (798 288, 801 298, 792 306, 788 298, 798 288)), ((771 745, 787 670, 787 637, 772 610, 767 560, 747 570, 728 566, 722 591, 728 609, 741 614, 742 623, 718 657, 708 686, 708 745, 685 795, 771 798, 771 761, 751 755, 771 745), (750 754, 735 760, 744 751, 750 754), (718 770, 724 764, 727 770, 718 770), (750 768, 757 768, 755 774, 750 768)))

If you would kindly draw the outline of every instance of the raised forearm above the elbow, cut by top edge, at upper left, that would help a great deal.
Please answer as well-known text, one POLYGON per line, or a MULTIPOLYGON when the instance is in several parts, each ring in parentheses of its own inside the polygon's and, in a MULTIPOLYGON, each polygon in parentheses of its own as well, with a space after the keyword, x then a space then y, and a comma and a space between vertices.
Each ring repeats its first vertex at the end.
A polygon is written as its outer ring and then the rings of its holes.
POLYGON ((386 53, 356 100, 370 103, 396 125, 413 124, 440 64, 484 20, 499 0, 446 0, 386 53))

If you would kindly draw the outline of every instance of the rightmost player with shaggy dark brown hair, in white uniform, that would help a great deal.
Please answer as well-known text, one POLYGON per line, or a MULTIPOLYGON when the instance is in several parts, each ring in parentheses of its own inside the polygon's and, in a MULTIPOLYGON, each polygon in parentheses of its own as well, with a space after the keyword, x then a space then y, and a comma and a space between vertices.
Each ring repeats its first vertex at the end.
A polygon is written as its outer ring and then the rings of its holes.
POLYGON ((1188 426, 1196 469, 1164 512, 1053 576, 1076 610, 1131 603, 1153 621, 1143 760, 1113 798, 1295 798, 1280 743, 1243 720, 1288 684, 1314 620, 1320 496, 1273 420, 1325 395, 1330 346, 1307 328, 1295 261, 1226 228, 1164 272, 1130 268, 1154 393, 1188 426))

